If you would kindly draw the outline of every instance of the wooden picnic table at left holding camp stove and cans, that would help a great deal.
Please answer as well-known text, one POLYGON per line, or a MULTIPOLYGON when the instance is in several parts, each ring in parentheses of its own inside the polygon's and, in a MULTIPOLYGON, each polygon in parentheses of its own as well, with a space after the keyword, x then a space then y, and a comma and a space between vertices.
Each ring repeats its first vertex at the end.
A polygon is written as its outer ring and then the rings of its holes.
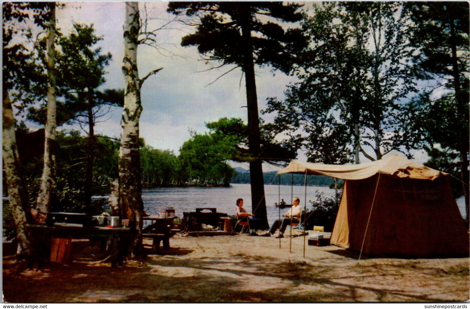
POLYGON ((122 266, 133 230, 118 227, 83 227, 82 224, 55 223, 53 226, 31 224, 28 226, 35 235, 45 237, 47 251, 50 251, 54 238, 109 240, 111 267, 122 266))

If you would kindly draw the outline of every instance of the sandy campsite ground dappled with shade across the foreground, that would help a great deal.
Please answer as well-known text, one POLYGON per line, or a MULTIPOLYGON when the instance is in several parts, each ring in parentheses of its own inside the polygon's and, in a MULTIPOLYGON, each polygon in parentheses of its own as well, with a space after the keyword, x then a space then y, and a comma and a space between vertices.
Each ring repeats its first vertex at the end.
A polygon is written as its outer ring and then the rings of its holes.
MULTIPOLYGON (((143 262, 48 263, 3 259, 8 302, 446 302, 468 301, 469 258, 368 259, 304 238, 249 235, 171 238, 143 262), (290 240, 292 249, 290 253, 290 240)), ((79 245, 79 246, 78 246, 79 245)), ((91 254, 92 244, 72 253, 91 254)))

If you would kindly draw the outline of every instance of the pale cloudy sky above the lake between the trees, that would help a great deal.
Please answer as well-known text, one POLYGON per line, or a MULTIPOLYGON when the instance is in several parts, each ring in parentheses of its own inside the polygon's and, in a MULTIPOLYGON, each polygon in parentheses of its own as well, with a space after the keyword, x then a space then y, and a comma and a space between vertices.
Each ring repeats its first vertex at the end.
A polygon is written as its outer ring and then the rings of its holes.
MULTIPOLYGON (((144 8, 140 3, 141 10, 144 8)), ((166 2, 146 3, 149 29, 159 28, 175 17, 166 13, 166 2)), ((95 33, 103 37, 98 46, 110 52, 112 61, 106 68, 106 88, 124 88, 121 71, 124 54, 123 24, 124 2, 66 2, 57 10, 57 25, 61 32, 69 33, 73 23, 94 24, 95 33)), ((174 21, 167 29, 157 32, 159 49, 140 46, 138 69, 142 78, 148 72, 163 67, 149 77, 141 89, 143 111, 140 119, 140 136, 146 144, 162 150, 179 153, 182 144, 190 139, 189 130, 204 133, 205 123, 222 117, 241 118, 247 123, 245 83, 240 69, 235 69, 214 82, 232 66, 210 70, 218 63, 201 60, 196 47, 180 46, 181 38, 194 32, 193 27, 174 21), (243 78, 243 79, 242 79, 243 78), (213 83, 212 83, 213 82, 213 83), (211 84, 212 83, 212 84, 211 84)), ((256 68, 258 108, 266 108, 266 98, 284 97, 286 85, 295 81, 280 71, 256 68)), ((121 109, 115 109, 99 119, 95 133, 119 137, 121 109), (103 121, 106 120, 106 121, 103 121)), ((261 114, 260 114, 261 115, 261 114)), ((272 116, 271 116, 272 117, 272 116)), ((266 118, 269 120, 268 118, 266 118)), ((60 129, 60 128, 59 128, 60 129)), ((239 164, 248 168, 248 164, 239 164)), ((276 170, 269 165, 265 170, 276 170)))

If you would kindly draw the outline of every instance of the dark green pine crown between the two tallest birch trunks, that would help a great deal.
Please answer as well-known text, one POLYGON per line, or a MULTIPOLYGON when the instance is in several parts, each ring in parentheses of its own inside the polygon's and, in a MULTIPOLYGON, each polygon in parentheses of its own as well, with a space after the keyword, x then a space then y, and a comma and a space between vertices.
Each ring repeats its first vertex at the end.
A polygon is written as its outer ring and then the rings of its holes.
MULTIPOLYGON (((105 82, 105 67, 111 54, 102 54, 95 45, 102 40, 94 34, 93 25, 74 24, 73 31, 64 36, 59 33, 57 45, 57 124, 73 122, 92 125, 96 118, 104 116, 109 106, 123 106, 124 91, 97 88, 105 82)), ((44 40, 38 48, 44 48, 44 40)), ((42 53, 41 57, 46 55, 42 53)), ((45 59, 42 59, 44 62, 45 59)), ((40 124, 46 122, 45 102, 28 108, 28 119, 40 124)))

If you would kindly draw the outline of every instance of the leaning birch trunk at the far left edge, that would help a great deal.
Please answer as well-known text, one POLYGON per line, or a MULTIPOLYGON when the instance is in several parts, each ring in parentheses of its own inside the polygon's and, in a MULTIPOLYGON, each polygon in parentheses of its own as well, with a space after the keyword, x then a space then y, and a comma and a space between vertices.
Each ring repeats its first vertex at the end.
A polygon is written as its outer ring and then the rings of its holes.
POLYGON ((7 180, 8 198, 11 214, 16 226, 18 240, 17 254, 32 256, 31 237, 26 229, 28 195, 20 177, 20 161, 16 147, 15 118, 8 91, 3 90, 3 168, 7 180))

